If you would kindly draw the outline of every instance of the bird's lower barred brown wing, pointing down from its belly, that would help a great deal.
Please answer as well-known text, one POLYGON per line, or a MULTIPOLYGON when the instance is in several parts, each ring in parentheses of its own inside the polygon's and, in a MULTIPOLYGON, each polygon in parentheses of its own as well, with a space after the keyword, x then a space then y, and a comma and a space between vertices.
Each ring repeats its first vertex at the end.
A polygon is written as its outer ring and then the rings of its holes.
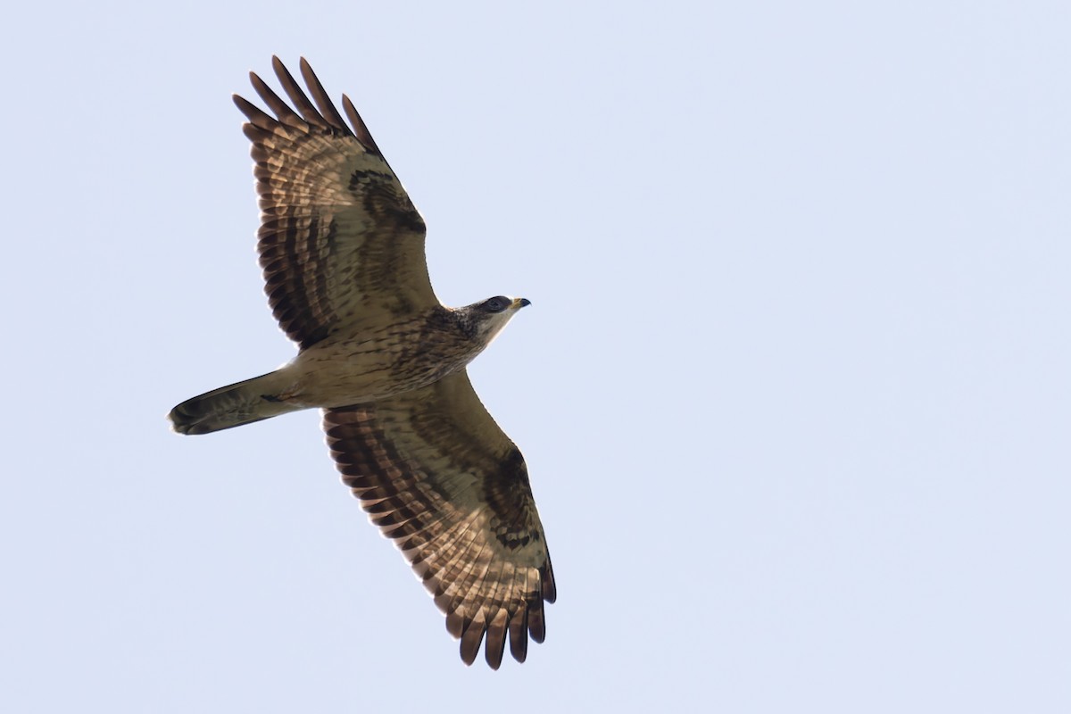
POLYGON ((554 572, 524 457, 462 370, 420 390, 325 410, 343 482, 393 538, 461 638, 497 669, 507 637, 524 662, 542 642, 554 572))

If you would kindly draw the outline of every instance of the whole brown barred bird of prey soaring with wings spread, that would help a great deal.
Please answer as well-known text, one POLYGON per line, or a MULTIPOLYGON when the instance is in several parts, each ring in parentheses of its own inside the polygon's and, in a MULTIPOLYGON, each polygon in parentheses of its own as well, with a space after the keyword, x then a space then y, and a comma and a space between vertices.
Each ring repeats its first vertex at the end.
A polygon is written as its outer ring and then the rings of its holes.
POLYGON ((506 643, 542 642, 554 572, 524 457, 477 397, 466 365, 529 304, 446 307, 432 290, 424 221, 344 94, 349 124, 308 63, 312 101, 278 58, 289 104, 255 73, 271 116, 241 96, 261 222, 257 249, 286 366, 183 401, 180 434, 323 409, 343 482, 392 538, 461 639, 492 668, 506 643), (292 105, 292 106, 291 106, 292 105))

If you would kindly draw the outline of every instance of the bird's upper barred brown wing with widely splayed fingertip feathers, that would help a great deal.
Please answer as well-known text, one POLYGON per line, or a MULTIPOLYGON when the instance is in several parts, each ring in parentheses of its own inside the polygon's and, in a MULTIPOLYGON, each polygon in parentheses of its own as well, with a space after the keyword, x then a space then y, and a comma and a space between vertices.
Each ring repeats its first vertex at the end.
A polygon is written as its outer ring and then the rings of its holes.
POLYGON ((291 108, 256 74, 253 88, 274 117, 235 95, 248 118, 260 196, 257 249, 269 302, 302 348, 357 320, 437 305, 424 259, 424 221, 352 103, 350 125, 312 67, 301 74, 316 104, 277 57, 272 66, 291 108))

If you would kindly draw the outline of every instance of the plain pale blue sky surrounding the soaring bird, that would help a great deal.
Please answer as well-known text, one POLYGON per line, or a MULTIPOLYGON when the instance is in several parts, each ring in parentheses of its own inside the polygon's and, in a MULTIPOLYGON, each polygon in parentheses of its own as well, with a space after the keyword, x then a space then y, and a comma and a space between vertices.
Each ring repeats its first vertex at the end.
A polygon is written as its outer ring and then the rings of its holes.
POLYGON ((1071 4, 5 11, 4 712, 1071 711, 1071 4), (347 92, 559 601, 466 668, 319 415, 230 94, 347 92), (602 711, 612 711, 605 709, 602 711))

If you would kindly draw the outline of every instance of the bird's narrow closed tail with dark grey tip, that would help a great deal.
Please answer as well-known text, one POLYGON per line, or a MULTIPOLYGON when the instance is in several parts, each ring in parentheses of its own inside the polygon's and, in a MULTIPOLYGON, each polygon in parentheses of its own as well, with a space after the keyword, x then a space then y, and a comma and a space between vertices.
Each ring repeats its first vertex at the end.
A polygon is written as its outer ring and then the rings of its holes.
POLYGON ((272 371, 186 399, 167 417, 179 434, 209 434, 304 409, 280 398, 286 386, 287 380, 272 371))

